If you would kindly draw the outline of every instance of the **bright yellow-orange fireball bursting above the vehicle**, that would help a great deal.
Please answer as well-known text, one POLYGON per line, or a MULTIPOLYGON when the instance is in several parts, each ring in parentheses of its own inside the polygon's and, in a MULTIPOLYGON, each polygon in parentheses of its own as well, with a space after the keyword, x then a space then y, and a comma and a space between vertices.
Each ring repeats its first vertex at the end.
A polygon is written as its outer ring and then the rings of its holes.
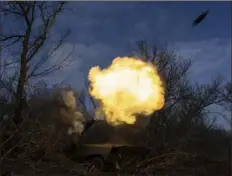
POLYGON ((153 64, 117 57, 106 69, 89 71, 90 94, 100 100, 111 125, 134 124, 136 114, 149 115, 164 106, 164 87, 153 64))

